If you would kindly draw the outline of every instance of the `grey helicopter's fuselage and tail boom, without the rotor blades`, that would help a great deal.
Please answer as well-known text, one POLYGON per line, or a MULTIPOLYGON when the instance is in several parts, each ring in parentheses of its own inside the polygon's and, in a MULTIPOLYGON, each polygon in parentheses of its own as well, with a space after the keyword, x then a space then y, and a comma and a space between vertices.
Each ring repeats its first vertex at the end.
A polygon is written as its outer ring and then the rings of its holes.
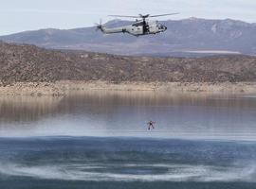
POLYGON ((131 26, 120 26, 113 28, 99 27, 104 34, 128 33, 134 36, 150 35, 164 32, 167 27, 157 21, 137 21, 131 26))

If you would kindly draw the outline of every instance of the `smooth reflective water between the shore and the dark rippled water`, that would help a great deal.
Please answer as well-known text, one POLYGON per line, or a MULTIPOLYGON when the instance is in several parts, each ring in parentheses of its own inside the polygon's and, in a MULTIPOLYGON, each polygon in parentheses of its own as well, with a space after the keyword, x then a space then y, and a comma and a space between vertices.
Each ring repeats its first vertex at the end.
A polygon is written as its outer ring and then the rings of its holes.
POLYGON ((63 97, 2 97, 0 112, 0 136, 256 136, 253 96, 88 91, 63 97), (156 122, 150 133, 149 120, 156 122))

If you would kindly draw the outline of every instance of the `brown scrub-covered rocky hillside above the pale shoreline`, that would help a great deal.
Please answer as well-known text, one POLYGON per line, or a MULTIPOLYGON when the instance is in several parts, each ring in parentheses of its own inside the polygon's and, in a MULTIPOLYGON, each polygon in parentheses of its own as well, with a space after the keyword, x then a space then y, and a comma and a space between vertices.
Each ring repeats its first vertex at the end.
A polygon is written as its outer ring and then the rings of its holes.
POLYGON ((248 56, 200 59, 125 57, 0 43, 0 67, 3 84, 57 80, 103 80, 116 83, 256 81, 256 58, 248 56))

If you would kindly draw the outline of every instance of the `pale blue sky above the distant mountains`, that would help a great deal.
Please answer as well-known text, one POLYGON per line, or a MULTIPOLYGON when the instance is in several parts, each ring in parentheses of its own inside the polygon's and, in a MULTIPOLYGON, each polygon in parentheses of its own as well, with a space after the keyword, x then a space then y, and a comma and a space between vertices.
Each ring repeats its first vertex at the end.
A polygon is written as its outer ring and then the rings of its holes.
POLYGON ((0 0, 0 35, 40 28, 94 26, 109 14, 179 12, 160 20, 190 17, 256 23, 256 0, 0 0))

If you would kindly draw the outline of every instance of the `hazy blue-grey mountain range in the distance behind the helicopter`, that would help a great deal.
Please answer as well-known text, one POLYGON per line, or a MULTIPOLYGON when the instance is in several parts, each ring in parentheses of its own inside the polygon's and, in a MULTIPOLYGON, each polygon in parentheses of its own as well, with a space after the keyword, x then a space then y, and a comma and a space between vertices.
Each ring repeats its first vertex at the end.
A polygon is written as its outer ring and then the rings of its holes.
MULTIPOLYGON (((41 29, 0 37, 11 43, 30 43, 46 48, 86 50, 120 55, 205 56, 213 54, 256 55, 256 25, 235 20, 190 18, 162 22, 165 33, 134 37, 102 35, 94 27, 68 30, 41 29)), ((108 27, 131 22, 113 20, 108 27)))

